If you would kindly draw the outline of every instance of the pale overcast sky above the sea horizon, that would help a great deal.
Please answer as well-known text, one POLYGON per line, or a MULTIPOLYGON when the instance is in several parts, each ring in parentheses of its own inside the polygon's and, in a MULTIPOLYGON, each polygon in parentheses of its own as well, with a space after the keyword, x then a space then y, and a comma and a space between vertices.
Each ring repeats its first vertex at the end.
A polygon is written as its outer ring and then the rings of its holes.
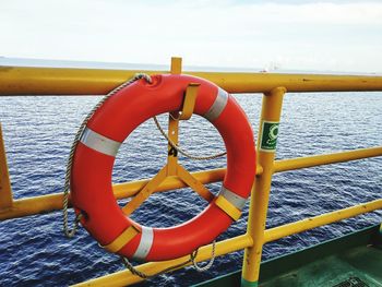
POLYGON ((0 56, 382 72, 382 1, 0 0, 0 56))

